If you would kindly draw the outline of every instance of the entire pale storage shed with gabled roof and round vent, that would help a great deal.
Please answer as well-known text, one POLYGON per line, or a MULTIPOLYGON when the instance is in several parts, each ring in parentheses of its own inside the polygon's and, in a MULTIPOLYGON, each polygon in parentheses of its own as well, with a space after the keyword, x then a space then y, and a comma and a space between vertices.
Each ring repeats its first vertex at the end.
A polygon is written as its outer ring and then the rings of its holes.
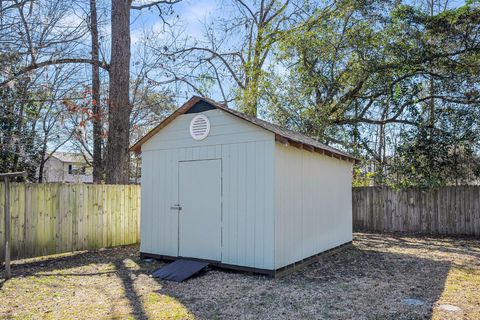
POLYGON ((140 139, 143 257, 271 276, 352 241, 355 159, 193 97, 140 139))

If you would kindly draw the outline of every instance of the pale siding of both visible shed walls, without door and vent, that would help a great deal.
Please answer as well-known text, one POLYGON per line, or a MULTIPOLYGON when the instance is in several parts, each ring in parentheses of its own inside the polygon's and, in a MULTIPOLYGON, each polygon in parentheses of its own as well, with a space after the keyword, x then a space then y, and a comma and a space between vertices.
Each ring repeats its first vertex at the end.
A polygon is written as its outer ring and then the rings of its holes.
POLYGON ((211 131, 189 135, 176 118, 142 146, 141 251, 178 254, 178 162, 222 160, 222 262, 277 269, 352 240, 352 165, 286 147, 221 110, 211 131))

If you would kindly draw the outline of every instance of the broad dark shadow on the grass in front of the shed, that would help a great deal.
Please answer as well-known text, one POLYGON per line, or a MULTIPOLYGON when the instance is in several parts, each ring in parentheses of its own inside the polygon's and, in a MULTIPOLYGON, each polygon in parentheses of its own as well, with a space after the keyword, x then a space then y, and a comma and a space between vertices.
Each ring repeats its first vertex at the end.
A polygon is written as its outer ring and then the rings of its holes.
POLYGON ((353 247, 284 278, 209 271, 184 283, 161 281, 159 293, 198 318, 425 319, 432 317, 450 267, 448 261, 353 247))

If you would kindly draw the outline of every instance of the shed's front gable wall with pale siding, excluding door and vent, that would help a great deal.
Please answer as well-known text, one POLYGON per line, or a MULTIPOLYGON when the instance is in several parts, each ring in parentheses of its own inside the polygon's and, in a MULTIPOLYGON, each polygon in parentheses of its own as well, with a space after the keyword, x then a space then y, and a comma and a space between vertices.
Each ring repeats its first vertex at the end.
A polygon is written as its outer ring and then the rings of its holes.
POLYGON ((202 113, 210 134, 195 141, 189 125, 197 114, 179 116, 142 146, 140 250, 177 256, 178 213, 170 207, 178 201, 178 162, 222 159, 222 262, 273 269, 274 135, 210 110, 202 113))

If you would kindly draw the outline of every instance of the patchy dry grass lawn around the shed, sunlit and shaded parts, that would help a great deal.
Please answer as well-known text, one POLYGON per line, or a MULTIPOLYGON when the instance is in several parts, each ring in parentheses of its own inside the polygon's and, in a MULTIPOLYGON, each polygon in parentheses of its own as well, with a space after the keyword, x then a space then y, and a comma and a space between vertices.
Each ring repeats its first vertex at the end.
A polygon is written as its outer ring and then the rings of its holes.
POLYGON ((136 246, 16 261, 0 318, 480 319, 478 239, 357 233, 352 248, 274 280, 151 278, 162 264, 136 246))

